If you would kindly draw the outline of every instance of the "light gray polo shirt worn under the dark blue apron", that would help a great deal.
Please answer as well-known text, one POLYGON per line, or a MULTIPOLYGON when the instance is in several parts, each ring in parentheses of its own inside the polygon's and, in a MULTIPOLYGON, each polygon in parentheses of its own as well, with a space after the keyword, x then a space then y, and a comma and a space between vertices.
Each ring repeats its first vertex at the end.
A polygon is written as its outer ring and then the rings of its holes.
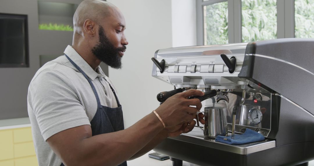
MULTIPOLYGON (((92 80, 101 105, 116 108, 115 96, 106 80, 113 84, 101 68, 98 66, 94 71, 71 46, 64 53, 92 80)), ((69 128, 90 125, 97 110, 92 87, 64 55, 36 72, 28 88, 27 105, 40 166, 62 163, 46 142, 49 137, 69 128)))

